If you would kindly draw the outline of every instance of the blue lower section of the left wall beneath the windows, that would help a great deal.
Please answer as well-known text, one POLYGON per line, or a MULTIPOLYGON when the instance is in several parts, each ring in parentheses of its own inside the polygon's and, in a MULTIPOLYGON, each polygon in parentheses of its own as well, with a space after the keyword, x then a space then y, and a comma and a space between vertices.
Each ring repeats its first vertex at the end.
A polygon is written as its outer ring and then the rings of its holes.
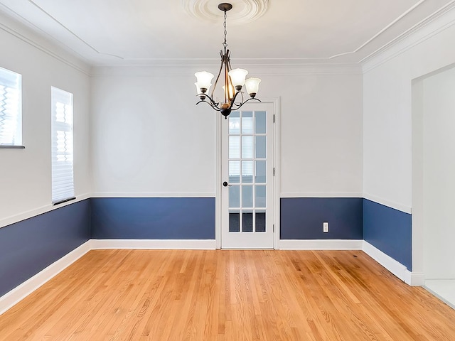
POLYGON ((90 200, 0 229, 0 296, 90 239, 90 200))

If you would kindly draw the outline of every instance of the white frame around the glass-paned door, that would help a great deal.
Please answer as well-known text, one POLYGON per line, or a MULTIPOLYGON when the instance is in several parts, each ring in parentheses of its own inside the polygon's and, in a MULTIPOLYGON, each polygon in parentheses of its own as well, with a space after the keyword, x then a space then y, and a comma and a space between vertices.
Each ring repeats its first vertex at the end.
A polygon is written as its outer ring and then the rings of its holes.
MULTIPOLYGON (((279 248, 279 97, 272 97, 272 98, 265 98, 261 99, 262 103, 272 103, 273 104, 273 114, 274 114, 274 141, 273 141, 273 164, 274 164, 274 177, 273 177, 273 225, 274 225, 274 237, 273 237, 273 248, 279 248)), ((254 103, 254 102, 253 102, 254 103)), ((224 117, 220 113, 217 114, 216 117, 216 125, 217 125, 217 134, 216 134, 216 197, 215 197, 215 244, 217 249, 221 249, 221 197, 222 197, 222 189, 223 189, 223 181, 222 181, 222 161, 223 156, 221 155, 222 150, 222 123, 224 121, 224 117)))

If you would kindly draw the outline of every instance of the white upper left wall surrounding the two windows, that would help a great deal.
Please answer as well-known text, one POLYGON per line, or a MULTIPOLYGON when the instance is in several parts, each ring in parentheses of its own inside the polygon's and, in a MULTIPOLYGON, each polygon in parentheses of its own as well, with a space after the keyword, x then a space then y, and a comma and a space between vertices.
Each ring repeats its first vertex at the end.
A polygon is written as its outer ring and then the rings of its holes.
POLYGON ((90 77, 83 63, 0 17, 0 66, 22 75, 23 145, 0 149, 0 227, 51 210, 50 87, 74 94, 75 192, 90 193, 90 77), (32 38, 36 43, 31 43, 32 38), (56 52, 55 52, 56 51, 56 52))

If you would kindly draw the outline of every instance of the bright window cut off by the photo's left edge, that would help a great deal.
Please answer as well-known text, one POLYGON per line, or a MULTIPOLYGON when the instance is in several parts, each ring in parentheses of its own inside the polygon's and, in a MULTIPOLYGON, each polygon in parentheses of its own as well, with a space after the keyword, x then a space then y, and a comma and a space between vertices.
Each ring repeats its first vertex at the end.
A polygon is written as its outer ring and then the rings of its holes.
POLYGON ((22 76, 0 67, 0 147, 22 144, 22 76))

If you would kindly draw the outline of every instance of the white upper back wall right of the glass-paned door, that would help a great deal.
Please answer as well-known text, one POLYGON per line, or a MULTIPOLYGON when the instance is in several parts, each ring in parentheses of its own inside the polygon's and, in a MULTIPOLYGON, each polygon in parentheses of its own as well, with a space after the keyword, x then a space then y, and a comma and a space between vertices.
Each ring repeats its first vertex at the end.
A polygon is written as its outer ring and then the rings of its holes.
POLYGON ((282 197, 362 195, 362 75, 337 71, 262 77, 282 98, 282 197))

